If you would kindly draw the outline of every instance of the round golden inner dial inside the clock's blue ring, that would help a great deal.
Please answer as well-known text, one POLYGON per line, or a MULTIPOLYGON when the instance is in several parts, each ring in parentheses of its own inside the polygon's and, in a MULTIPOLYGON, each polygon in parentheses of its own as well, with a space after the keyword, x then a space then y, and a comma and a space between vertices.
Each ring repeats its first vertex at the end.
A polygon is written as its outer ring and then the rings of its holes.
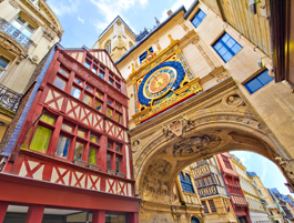
POLYGON ((143 93, 148 99, 163 97, 172 88, 176 79, 176 70, 171 67, 163 67, 152 73, 146 80, 143 93))

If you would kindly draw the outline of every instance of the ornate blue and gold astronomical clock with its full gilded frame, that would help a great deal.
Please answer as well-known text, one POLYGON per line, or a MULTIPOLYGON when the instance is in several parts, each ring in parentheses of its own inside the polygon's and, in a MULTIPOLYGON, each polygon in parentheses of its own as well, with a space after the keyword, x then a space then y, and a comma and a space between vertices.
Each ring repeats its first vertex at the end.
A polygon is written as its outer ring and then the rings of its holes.
POLYGON ((132 64, 130 79, 134 88, 135 124, 143 123, 200 92, 199 78, 191 73, 179 40, 171 36, 170 45, 160 52, 148 50, 138 70, 132 64))

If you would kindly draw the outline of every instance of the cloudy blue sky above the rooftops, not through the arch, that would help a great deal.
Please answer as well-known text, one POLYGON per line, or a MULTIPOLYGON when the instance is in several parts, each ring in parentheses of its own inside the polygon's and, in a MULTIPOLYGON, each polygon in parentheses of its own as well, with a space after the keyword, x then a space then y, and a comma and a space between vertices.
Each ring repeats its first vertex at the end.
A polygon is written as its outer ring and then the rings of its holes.
POLYGON ((154 17, 160 21, 166 12, 175 11, 182 4, 186 9, 194 0, 48 0, 47 3, 58 16, 63 30, 61 44, 65 48, 88 48, 99 34, 120 14, 128 26, 140 33, 144 27, 153 28, 154 17))

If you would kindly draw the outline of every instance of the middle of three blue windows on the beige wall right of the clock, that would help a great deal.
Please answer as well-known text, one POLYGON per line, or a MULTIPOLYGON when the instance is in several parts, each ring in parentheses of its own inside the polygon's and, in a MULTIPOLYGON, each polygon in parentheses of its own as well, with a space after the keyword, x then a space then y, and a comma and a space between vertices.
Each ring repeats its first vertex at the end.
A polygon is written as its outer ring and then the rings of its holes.
POLYGON ((231 60, 242 49, 241 44, 226 32, 212 47, 224 62, 231 60))

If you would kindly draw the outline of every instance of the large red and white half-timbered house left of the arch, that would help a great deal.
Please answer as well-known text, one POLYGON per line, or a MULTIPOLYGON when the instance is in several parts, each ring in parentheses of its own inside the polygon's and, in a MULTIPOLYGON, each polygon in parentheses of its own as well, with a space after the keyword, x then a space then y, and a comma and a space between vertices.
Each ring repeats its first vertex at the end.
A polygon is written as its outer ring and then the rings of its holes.
MULTIPOLYGON (((105 50, 57 47, 2 172, 22 176, 19 183, 23 178, 42 182, 47 184, 43 192, 52 196, 58 194, 57 185, 62 185, 60 194, 69 187, 88 193, 80 204, 57 197, 55 204, 43 199, 37 203, 40 206, 92 211, 97 223, 104 222, 99 219, 108 212, 124 213, 128 222, 138 222, 140 200, 133 197, 128 100, 125 82, 105 50), (48 191, 50 185, 53 192, 48 191), (93 206, 84 204, 89 193, 97 197, 93 206), (99 204, 108 194, 110 205, 99 204)), ((13 187, 13 180, 8 182, 13 187)), ((14 196, 11 201, 26 202, 14 196)))

